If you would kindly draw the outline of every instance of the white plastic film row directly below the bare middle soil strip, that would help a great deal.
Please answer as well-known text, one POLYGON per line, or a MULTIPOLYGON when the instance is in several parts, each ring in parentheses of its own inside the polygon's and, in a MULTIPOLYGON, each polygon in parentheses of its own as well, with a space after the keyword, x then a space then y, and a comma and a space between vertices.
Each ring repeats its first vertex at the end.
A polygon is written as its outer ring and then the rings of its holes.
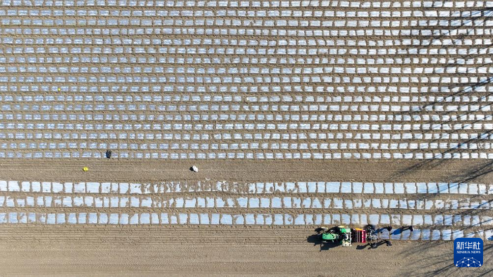
MULTIPOLYGON (((257 182, 229 183, 198 181, 155 184, 114 182, 37 182, 0 180, 0 191, 42 193, 151 194, 176 192, 228 192, 235 194, 273 193, 356 193, 356 194, 493 194, 492 184, 446 182, 257 182)), ((199 201, 199 200, 197 200, 199 201)), ((236 199, 236 201, 243 201, 236 199)), ((251 200, 260 201, 260 200, 251 200)), ((265 200, 263 200, 265 201, 265 200)), ((276 200, 277 201, 277 200, 276 200)), ((258 204, 256 204, 258 206, 258 204)))

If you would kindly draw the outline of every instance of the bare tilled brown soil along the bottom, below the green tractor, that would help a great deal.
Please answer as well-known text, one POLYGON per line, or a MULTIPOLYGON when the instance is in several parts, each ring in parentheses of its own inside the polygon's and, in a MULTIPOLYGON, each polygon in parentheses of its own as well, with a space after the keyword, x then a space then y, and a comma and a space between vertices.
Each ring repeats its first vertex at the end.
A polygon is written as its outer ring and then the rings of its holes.
MULTIPOLYGON (((320 247, 309 226, 3 226, 0 268, 7 275, 166 276, 489 276, 485 266, 453 266, 452 242, 390 247, 320 247)), ((488 260, 490 259, 490 262, 488 260)))

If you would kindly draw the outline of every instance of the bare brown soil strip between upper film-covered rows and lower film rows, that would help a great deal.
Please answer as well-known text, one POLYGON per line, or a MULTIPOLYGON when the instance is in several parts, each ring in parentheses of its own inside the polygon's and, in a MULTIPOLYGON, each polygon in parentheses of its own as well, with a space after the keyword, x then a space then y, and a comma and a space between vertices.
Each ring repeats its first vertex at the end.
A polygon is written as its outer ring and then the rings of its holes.
POLYGON ((489 160, 3 160, 3 179, 37 181, 379 181, 489 183, 489 160), (197 165, 198 173, 189 170, 197 165), (82 168, 88 167, 88 172, 82 168))

